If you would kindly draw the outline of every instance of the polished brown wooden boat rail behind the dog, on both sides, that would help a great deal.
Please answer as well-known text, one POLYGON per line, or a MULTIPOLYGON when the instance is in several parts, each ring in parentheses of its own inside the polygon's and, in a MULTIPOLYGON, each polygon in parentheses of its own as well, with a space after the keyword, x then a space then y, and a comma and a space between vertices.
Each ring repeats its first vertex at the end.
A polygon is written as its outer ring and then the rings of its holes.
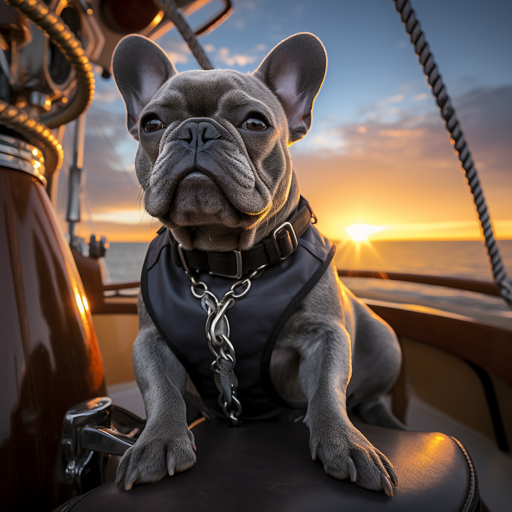
MULTIPOLYGON (((105 297, 105 291, 138 288, 138 281, 103 284, 101 267, 93 258, 73 251, 92 313, 137 313, 135 297, 105 297)), ((338 270, 338 275, 446 286, 499 295, 494 283, 462 278, 364 270, 338 270)), ((395 330, 494 372, 512 386, 512 330, 468 316, 413 304, 366 299, 365 303, 395 330), (461 340, 464 340, 462 343, 461 340)))

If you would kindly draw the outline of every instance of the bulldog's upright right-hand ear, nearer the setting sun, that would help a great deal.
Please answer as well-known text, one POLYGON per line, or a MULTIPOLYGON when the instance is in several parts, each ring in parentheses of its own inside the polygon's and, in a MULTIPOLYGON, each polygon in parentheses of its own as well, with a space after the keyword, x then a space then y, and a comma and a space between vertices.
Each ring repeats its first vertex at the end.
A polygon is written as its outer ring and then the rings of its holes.
POLYGON ((303 32, 281 41, 253 75, 279 98, 288 118, 289 143, 311 127, 313 102, 322 87, 327 54, 322 41, 303 32))

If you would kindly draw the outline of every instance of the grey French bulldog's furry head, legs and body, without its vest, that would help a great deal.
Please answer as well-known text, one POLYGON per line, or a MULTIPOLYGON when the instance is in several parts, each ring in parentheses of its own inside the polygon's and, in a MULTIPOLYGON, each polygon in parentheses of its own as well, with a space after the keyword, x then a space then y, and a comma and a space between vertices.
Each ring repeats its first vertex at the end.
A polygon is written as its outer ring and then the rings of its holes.
MULTIPOLYGON (((178 73, 151 40, 122 39, 113 70, 128 130, 139 141, 135 167, 148 214, 183 248, 206 251, 245 251, 269 226, 286 221, 300 197, 288 146, 310 129, 326 68, 322 42, 308 33, 282 41, 252 74, 178 73), (181 127, 190 120, 215 128, 187 150, 199 155, 209 144, 215 180, 194 166, 183 169, 181 127)), ((187 373, 140 296, 138 308, 133 362, 147 423, 117 470, 116 483, 124 480, 126 490, 196 462, 183 400, 187 373)), ((329 475, 388 496, 391 482, 397 485, 393 465, 348 411, 370 424, 403 428, 384 400, 400 364, 395 334, 339 281, 333 263, 289 318, 270 360, 275 390, 290 406, 307 408, 312 458, 329 475)))

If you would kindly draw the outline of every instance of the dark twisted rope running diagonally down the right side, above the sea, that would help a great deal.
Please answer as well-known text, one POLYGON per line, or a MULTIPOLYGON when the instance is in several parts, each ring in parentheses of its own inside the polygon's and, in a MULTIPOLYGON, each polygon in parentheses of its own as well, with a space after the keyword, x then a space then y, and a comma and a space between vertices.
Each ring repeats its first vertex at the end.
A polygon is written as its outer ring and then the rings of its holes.
POLYGON ((487 205, 485 204, 480 178, 478 177, 475 163, 471 157, 470 148, 462 133, 454 106, 446 92, 446 87, 442 82, 441 75, 434 62, 434 56, 430 51, 428 42, 425 40, 425 35, 421 30, 420 24, 416 18, 416 13, 411 7, 411 3, 409 0, 393 0, 393 2, 402 18, 403 24, 406 26, 407 33, 411 37, 411 42, 419 57, 423 72, 432 88, 432 93, 436 99, 441 117, 445 122, 446 130, 453 139, 455 152, 464 169, 467 183, 473 194, 480 224, 482 225, 485 246, 487 247, 490 265, 493 269, 494 280, 500 290, 501 296, 512 308, 512 281, 510 281, 506 274, 505 266, 503 265, 500 251, 494 238, 493 226, 490 221, 487 205))

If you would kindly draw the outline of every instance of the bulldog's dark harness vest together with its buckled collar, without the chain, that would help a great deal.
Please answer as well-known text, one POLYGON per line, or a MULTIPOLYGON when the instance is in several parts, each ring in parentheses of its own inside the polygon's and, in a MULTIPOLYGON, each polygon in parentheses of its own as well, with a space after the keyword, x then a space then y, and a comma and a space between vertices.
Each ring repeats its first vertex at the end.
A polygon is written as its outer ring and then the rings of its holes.
POLYGON ((309 204, 301 198, 288 222, 249 251, 185 251, 166 228, 159 230, 148 248, 141 276, 147 312, 203 400, 220 416, 219 391, 210 369, 212 356, 205 335, 205 312, 190 293, 184 270, 194 275, 197 270, 210 272, 212 275, 202 275, 201 279, 222 297, 241 273, 268 265, 227 317, 236 349, 242 418, 277 418, 289 406, 270 382, 272 348, 288 318, 327 270, 335 250, 311 224, 312 218, 309 204))

